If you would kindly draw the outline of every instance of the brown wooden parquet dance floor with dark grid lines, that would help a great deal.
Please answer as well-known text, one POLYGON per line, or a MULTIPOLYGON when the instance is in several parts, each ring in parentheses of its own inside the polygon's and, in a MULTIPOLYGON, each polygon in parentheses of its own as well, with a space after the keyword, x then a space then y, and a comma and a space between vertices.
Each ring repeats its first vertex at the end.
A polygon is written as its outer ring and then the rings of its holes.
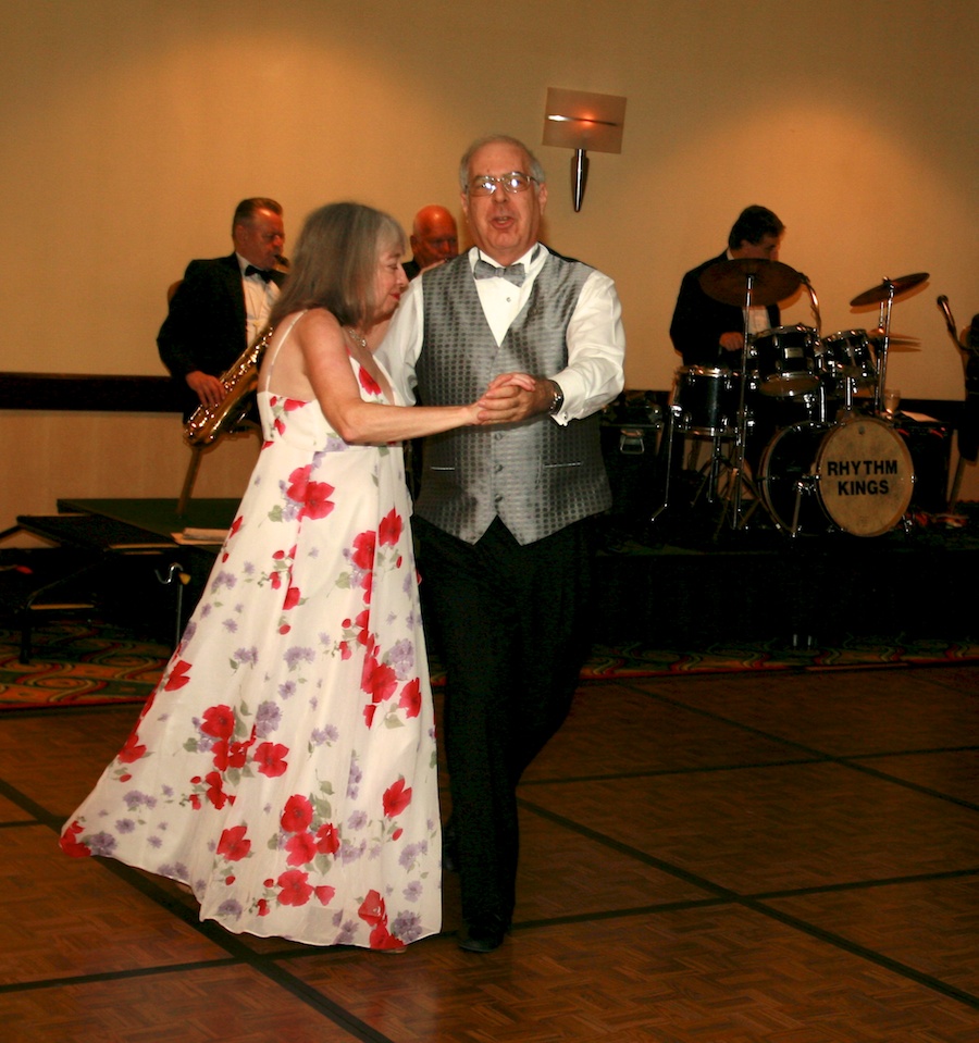
POLYGON ((230 935, 60 855, 135 707, 0 718, 14 1043, 976 1043, 979 666, 582 685, 521 786, 511 938, 230 935))

